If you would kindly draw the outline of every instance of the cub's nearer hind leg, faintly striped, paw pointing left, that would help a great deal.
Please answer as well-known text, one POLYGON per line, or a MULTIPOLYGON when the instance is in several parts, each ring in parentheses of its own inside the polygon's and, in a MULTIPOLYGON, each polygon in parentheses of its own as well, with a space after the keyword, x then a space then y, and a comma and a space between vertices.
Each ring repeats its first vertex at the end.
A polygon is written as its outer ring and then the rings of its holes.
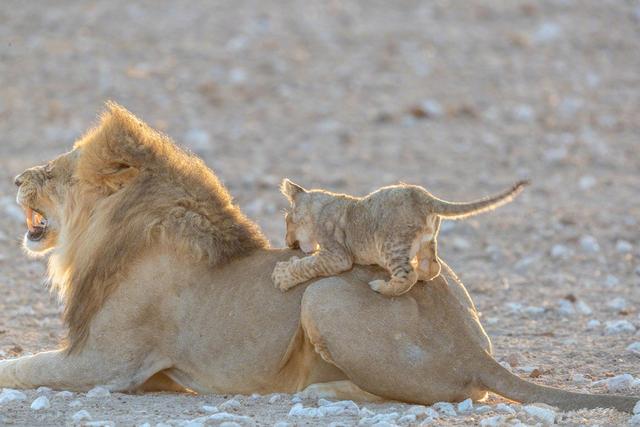
POLYGON ((369 286, 376 292, 387 296, 398 296, 409 292, 418 281, 418 273, 411 265, 411 244, 413 237, 398 238, 397 241, 384 245, 382 258, 391 278, 373 280, 369 286))

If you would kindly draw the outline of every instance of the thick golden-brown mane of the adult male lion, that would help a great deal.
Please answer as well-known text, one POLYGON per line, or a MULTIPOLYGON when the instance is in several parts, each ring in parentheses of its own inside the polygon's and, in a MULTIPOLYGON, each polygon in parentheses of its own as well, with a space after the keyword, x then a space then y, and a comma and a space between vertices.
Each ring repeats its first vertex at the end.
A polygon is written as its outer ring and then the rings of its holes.
POLYGON ((50 272, 65 303, 69 352, 149 248, 169 245, 215 266, 268 246, 201 160, 116 104, 67 156, 76 167, 50 272))

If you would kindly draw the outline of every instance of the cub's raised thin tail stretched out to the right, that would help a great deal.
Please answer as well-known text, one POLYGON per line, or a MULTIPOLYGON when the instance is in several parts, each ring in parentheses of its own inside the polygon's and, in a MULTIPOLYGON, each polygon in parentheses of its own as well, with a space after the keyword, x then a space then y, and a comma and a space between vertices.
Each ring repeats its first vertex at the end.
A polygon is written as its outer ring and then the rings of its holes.
POLYGON ((527 185, 529 185, 529 181, 519 181, 507 191, 468 203, 447 202, 430 195, 432 199, 431 212, 447 219, 461 219, 477 215, 509 203, 520 194, 527 185))

